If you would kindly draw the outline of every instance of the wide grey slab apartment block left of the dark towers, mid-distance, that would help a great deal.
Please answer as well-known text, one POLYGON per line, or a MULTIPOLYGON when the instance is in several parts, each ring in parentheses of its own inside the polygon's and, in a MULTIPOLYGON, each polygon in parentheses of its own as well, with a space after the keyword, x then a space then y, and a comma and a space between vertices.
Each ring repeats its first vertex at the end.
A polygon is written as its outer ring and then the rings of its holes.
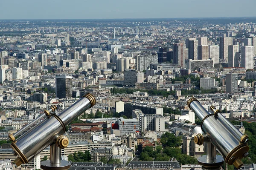
POLYGON ((150 64, 157 64, 158 56, 156 54, 143 54, 136 56, 136 69, 143 71, 148 69, 150 64))

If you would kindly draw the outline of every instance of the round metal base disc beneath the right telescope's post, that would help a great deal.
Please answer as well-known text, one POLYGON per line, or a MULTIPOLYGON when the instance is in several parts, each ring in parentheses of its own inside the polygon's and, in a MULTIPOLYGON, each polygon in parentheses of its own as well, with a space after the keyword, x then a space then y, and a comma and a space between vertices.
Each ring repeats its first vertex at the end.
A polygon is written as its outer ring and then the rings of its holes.
POLYGON ((202 166, 203 170, 219 170, 223 163, 224 158, 220 155, 216 155, 215 159, 207 159, 207 155, 198 158, 198 164, 202 166))

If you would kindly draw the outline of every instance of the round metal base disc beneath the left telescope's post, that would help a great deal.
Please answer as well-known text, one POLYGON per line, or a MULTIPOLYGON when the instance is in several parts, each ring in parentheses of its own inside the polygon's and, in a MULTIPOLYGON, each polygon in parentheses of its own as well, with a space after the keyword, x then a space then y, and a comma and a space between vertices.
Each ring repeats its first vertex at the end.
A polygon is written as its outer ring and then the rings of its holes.
POLYGON ((41 161, 41 168, 43 170, 68 170, 70 168, 70 162, 61 160, 59 164, 52 164, 50 160, 41 161))

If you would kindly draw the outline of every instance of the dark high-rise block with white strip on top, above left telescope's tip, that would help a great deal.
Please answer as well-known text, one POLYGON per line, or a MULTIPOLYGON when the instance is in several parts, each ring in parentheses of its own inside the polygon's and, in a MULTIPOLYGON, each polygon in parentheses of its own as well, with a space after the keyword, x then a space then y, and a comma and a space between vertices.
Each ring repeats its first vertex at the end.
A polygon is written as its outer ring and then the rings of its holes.
POLYGON ((56 97, 72 98, 72 75, 56 75, 56 97))

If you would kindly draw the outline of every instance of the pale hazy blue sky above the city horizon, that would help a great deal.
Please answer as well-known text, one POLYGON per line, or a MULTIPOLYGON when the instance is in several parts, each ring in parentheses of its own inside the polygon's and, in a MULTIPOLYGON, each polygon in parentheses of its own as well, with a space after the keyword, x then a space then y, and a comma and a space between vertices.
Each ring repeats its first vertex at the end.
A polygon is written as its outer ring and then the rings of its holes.
POLYGON ((0 0, 0 19, 253 17, 256 0, 0 0))

